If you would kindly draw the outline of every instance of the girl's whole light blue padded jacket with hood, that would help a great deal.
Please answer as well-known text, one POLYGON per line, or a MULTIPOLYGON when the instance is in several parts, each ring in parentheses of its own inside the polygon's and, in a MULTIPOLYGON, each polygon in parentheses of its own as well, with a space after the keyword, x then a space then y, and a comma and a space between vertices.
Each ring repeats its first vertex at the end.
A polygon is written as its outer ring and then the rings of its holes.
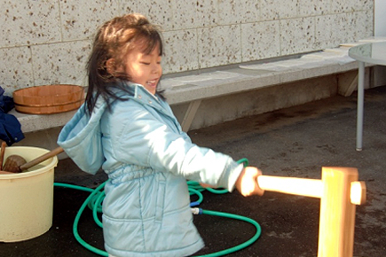
POLYGON ((138 84, 111 112, 102 97, 82 106, 58 144, 83 171, 106 172, 103 233, 114 256, 186 256, 203 247, 193 225, 186 179, 232 191, 242 165, 192 144, 169 105, 138 84))

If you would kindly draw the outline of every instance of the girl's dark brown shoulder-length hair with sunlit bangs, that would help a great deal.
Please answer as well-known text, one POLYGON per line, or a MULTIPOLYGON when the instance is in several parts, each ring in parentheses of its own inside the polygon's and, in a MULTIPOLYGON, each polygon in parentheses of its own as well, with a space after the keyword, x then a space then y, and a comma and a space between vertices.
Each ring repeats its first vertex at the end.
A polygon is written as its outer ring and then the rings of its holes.
POLYGON ((108 107, 114 99, 126 100, 124 97, 118 97, 114 89, 127 91, 122 81, 130 81, 129 74, 109 73, 106 61, 110 58, 114 59, 110 67, 113 69, 118 66, 125 67, 126 54, 138 47, 138 44, 134 44, 138 42, 143 43, 141 47, 146 54, 152 52, 158 45, 160 56, 162 55, 159 27, 150 24, 148 19, 141 14, 131 13, 116 17, 98 29, 87 63, 89 87, 85 101, 89 114, 92 113, 98 97, 103 97, 108 107))

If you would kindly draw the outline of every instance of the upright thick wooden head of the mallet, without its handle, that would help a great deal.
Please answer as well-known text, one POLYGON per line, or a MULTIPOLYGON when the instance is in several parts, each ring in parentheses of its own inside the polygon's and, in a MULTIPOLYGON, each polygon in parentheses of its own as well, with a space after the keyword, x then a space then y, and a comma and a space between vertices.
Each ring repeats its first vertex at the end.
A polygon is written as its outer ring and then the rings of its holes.
POLYGON ((351 182, 357 180, 357 168, 322 167, 318 257, 352 256, 356 206, 351 204, 351 182))

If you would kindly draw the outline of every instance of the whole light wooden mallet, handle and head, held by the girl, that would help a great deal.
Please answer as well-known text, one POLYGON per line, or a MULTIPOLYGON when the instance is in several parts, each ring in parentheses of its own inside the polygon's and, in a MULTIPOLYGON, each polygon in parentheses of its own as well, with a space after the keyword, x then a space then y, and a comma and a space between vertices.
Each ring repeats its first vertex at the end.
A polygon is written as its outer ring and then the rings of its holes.
POLYGON ((366 202, 366 183, 355 167, 322 167, 321 180, 260 175, 264 191, 320 198, 318 257, 352 257, 355 205, 366 202))

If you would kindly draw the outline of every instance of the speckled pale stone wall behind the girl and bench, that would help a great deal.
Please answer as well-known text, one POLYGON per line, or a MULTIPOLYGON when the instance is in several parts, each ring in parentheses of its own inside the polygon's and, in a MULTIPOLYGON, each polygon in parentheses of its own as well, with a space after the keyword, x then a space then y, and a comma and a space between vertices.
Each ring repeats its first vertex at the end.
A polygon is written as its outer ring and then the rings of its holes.
POLYGON ((0 0, 0 85, 86 85, 97 27, 128 12, 161 25, 164 74, 288 56, 374 33, 374 0, 0 0))

